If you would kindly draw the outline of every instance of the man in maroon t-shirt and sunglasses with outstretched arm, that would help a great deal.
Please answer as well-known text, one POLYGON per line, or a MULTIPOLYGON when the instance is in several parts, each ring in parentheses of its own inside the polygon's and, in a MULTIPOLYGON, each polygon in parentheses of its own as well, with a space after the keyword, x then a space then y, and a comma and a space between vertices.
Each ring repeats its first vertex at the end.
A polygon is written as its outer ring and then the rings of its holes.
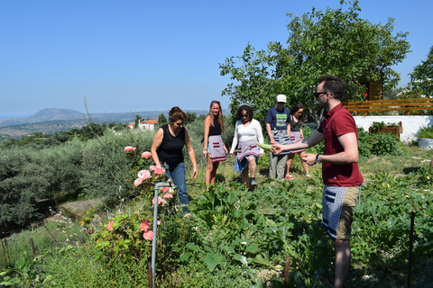
POLYGON ((322 163, 323 226, 336 249, 336 279, 334 287, 343 287, 350 266, 350 233, 356 199, 363 175, 358 167, 358 132, 355 120, 341 98, 345 82, 337 76, 323 76, 318 85, 316 100, 327 110, 318 130, 307 139, 288 145, 276 145, 273 151, 309 148, 325 141, 323 155, 305 154, 302 160, 308 165, 322 163))

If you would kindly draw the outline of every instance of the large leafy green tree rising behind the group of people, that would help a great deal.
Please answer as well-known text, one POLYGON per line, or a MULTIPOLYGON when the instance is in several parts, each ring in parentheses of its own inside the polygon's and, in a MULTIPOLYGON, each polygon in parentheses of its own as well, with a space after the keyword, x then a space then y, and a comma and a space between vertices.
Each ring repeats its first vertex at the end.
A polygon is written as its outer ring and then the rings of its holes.
MULTIPOLYGON (((223 95, 231 97, 232 113, 240 103, 249 103, 264 121, 277 94, 288 96, 288 106, 303 103, 315 121, 320 119, 313 97, 318 79, 336 75, 345 80, 350 99, 362 99, 364 82, 382 82, 385 90, 398 84, 400 75, 391 67, 410 51, 408 32, 392 35, 394 20, 373 24, 361 19, 358 1, 345 11, 312 11, 301 17, 288 14, 287 47, 269 42, 267 49, 255 50, 250 44, 243 56, 226 58, 220 64, 222 76, 231 75, 223 95)), ((348 99, 348 98, 347 98, 348 99)), ((254 117, 255 118, 255 117, 254 117)))

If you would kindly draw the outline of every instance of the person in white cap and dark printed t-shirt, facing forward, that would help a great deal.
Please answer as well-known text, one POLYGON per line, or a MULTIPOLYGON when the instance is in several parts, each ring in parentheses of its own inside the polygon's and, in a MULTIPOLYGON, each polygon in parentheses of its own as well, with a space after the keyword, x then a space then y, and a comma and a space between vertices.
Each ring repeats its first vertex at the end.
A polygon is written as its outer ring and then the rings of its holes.
MULTIPOLYGON (((284 107, 286 95, 277 95, 277 104, 268 110, 266 115, 266 131, 269 136, 269 144, 289 144, 290 143, 290 110, 284 107)), ((287 162, 287 154, 284 151, 280 154, 269 152, 269 177, 283 180, 287 162)))

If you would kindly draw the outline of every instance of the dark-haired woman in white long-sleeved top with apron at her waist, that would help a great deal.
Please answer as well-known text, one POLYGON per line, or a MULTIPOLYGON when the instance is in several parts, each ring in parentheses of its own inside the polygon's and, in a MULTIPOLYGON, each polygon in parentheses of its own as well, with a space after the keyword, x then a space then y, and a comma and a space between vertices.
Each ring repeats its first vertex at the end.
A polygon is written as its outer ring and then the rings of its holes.
POLYGON ((257 142, 263 143, 262 127, 259 121, 253 119, 253 108, 242 105, 237 109, 238 121, 235 125, 235 136, 233 138, 230 157, 235 156, 237 145, 237 158, 235 170, 242 173, 242 183, 248 184, 248 171, 250 171, 250 186, 257 186, 255 181, 255 170, 258 157, 263 157, 263 148, 259 148, 257 142))

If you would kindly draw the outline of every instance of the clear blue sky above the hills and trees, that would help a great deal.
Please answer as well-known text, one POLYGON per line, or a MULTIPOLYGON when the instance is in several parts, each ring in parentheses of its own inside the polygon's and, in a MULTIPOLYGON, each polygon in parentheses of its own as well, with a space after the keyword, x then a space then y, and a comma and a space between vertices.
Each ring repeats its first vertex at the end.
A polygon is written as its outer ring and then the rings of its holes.
MULTIPOLYGON (((401 84, 433 45, 433 1, 360 0, 371 23, 395 19, 412 52, 401 84)), ((287 13, 338 8, 338 0, 0 0, 0 119, 44 108, 89 112, 223 108, 231 83, 219 63, 249 43, 288 38, 287 13)), ((345 5, 347 7, 347 5, 345 5)))

